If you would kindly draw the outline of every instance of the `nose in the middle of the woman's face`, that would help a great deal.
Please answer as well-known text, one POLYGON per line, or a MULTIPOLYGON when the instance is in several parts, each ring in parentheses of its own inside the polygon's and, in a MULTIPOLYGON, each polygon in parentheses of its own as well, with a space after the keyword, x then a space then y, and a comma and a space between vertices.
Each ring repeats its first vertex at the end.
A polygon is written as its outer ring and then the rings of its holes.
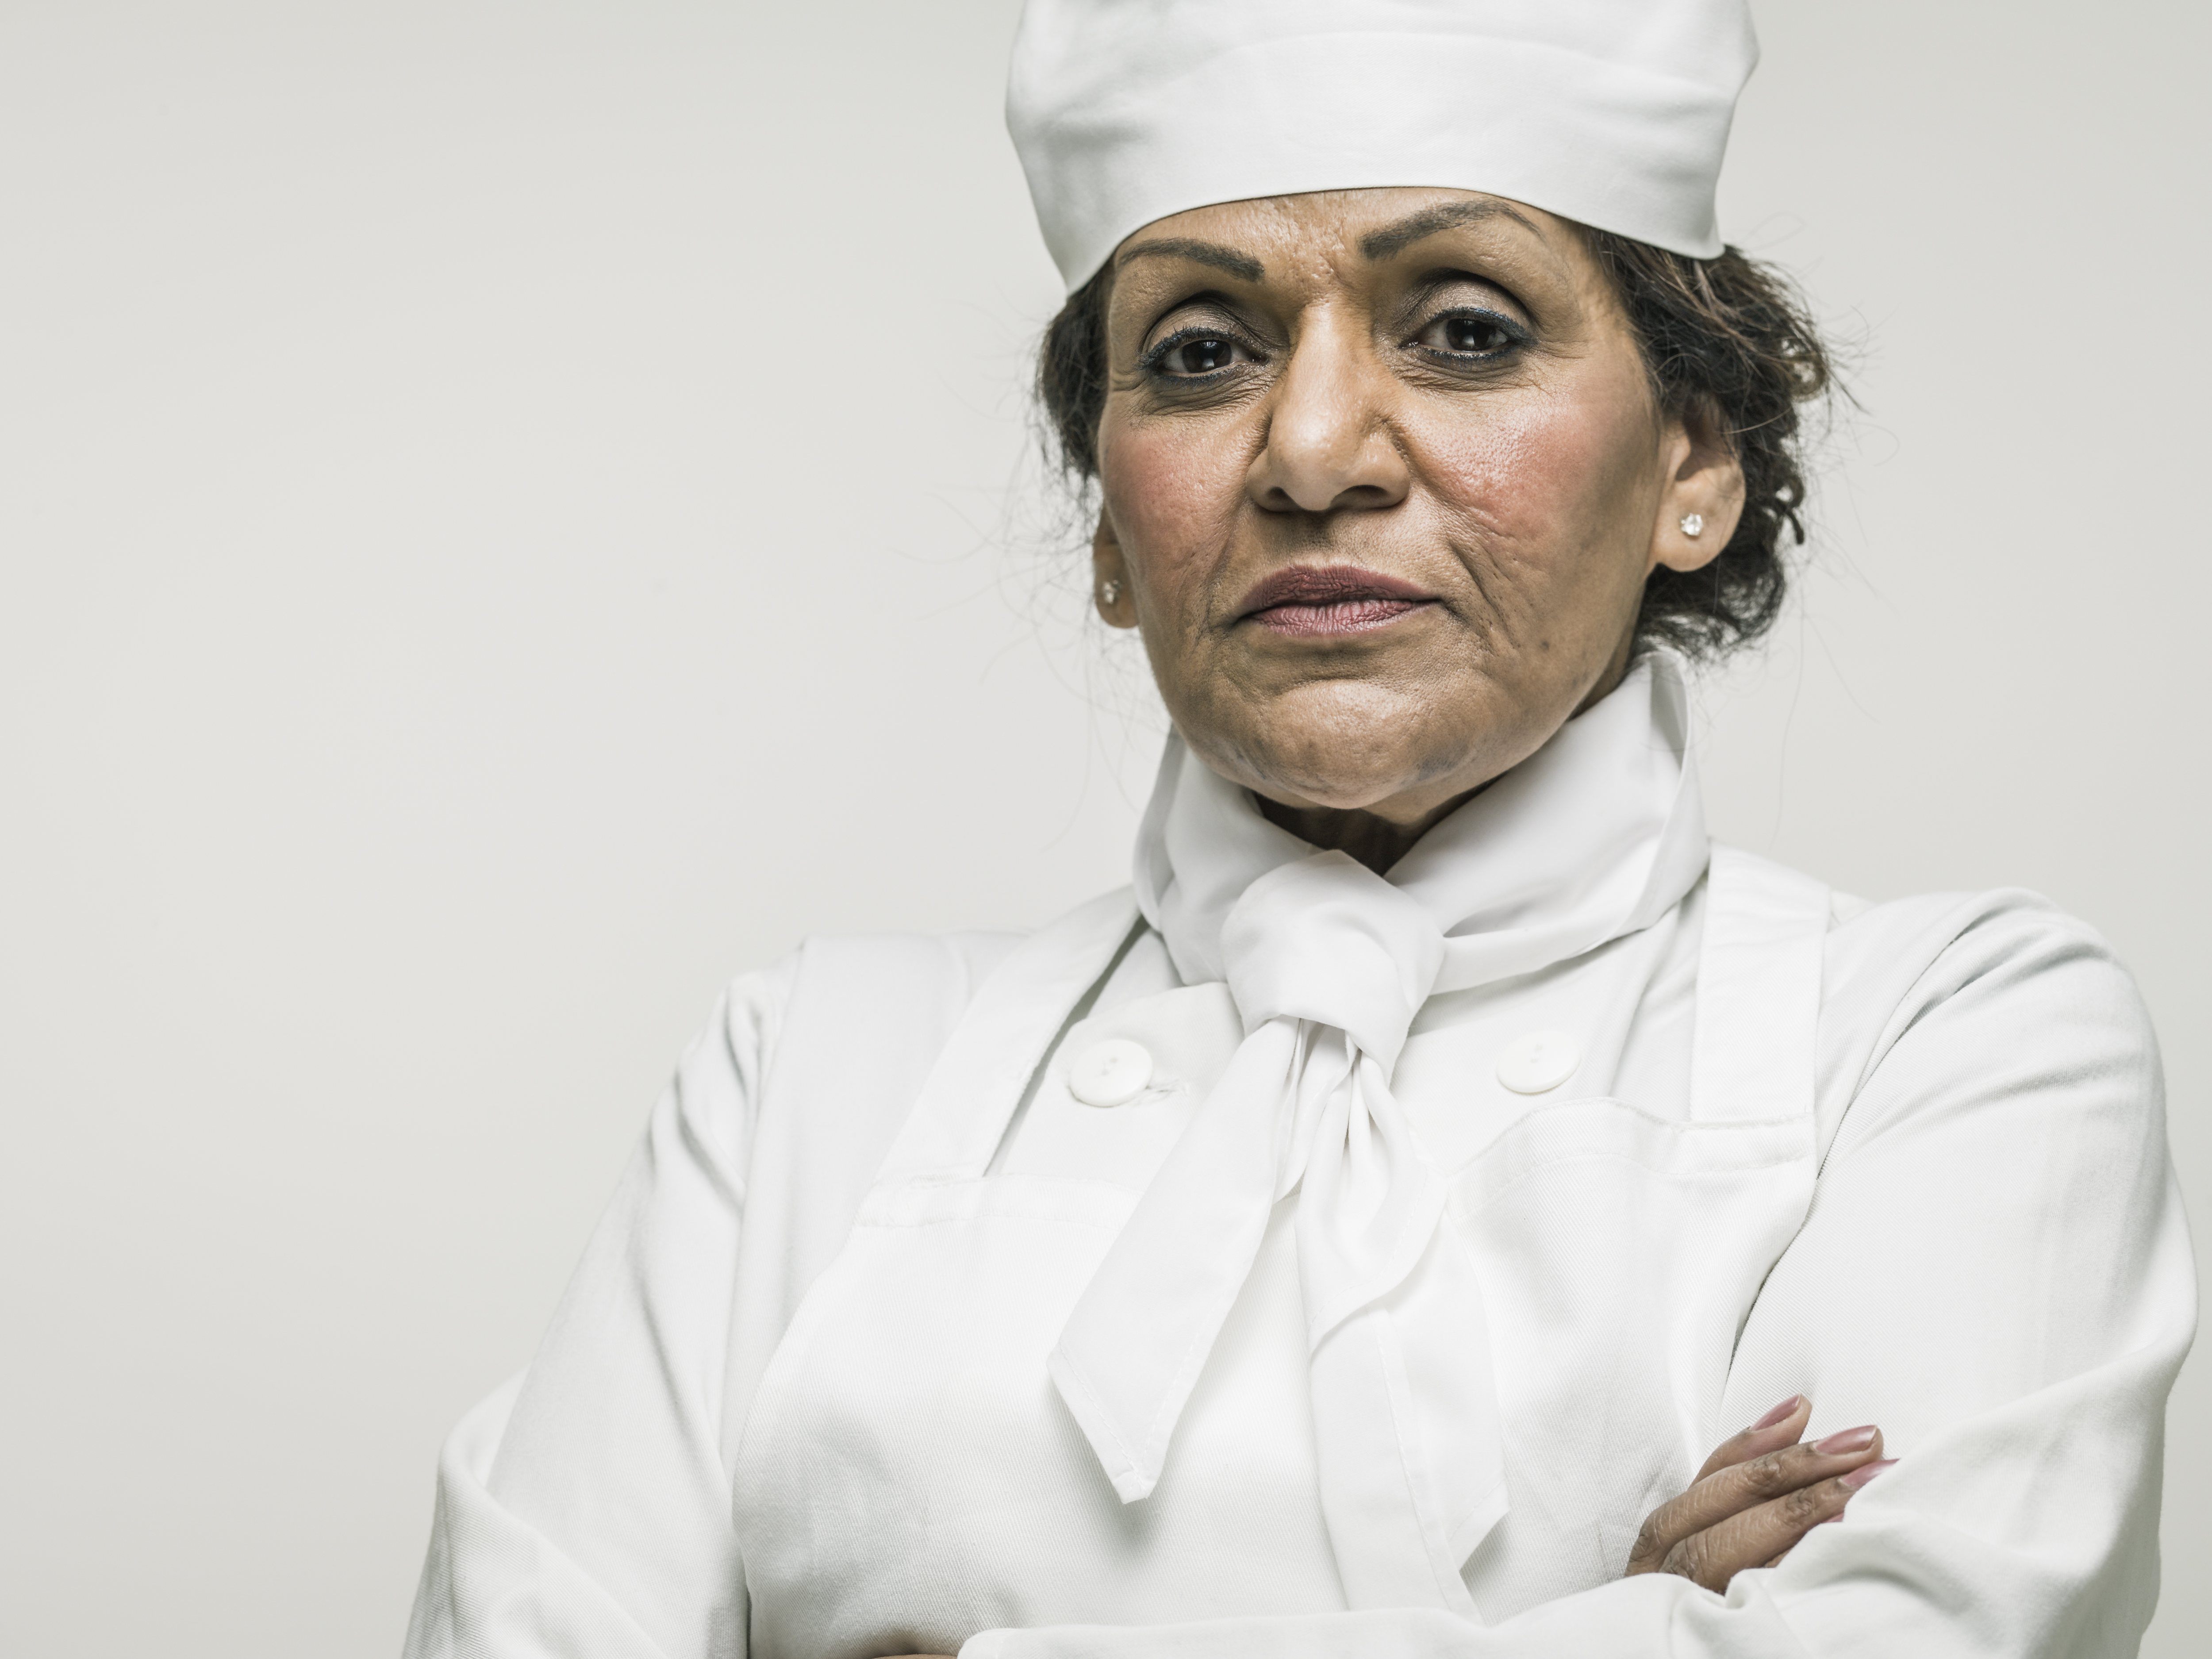
POLYGON ((1396 389, 1352 319, 1301 332, 1270 396, 1267 431, 1245 489, 1270 513, 1396 507, 1409 473, 1389 420, 1396 389))

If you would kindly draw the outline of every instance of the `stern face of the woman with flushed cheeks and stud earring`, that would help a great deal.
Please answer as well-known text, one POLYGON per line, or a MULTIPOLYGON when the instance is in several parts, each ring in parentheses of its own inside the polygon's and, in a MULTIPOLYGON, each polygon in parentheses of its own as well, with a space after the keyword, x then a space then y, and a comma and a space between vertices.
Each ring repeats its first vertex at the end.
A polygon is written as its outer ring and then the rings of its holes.
POLYGON ((1610 690, 1644 577, 1743 504, 1582 234, 1498 197, 1161 219, 1115 254, 1106 349, 1099 611, 1183 739, 1327 845, 1347 812, 1427 827, 1610 690))

